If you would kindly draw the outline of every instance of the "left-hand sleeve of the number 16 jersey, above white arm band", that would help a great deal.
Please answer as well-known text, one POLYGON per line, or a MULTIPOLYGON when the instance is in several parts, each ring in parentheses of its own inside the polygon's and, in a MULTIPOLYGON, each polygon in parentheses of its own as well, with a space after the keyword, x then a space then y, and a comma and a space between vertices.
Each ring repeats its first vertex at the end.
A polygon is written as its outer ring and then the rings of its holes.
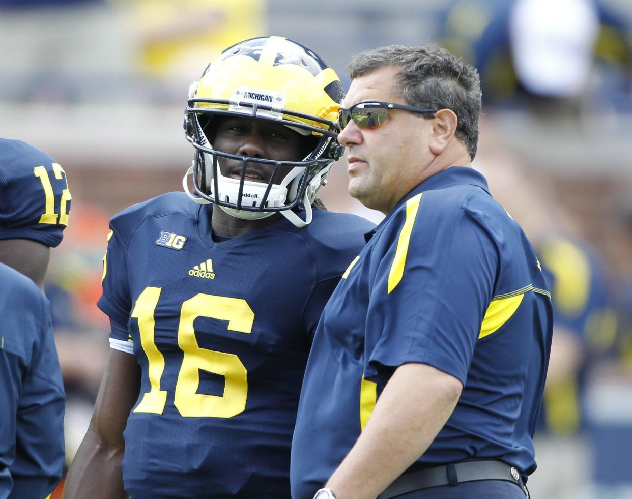
POLYGON ((127 342, 127 323, 131 314, 130 287, 127 274, 127 249, 111 222, 106 255, 103 258, 103 292, 97 306, 110 318, 111 340, 127 342))

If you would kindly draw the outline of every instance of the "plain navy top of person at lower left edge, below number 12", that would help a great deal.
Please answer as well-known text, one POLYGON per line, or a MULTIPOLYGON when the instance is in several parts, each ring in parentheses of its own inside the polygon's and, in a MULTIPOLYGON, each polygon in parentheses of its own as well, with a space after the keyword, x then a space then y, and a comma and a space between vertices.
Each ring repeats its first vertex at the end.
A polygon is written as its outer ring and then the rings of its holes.
POLYGON ((64 464, 64 388, 49 303, 0 263, 0 499, 44 499, 64 464))

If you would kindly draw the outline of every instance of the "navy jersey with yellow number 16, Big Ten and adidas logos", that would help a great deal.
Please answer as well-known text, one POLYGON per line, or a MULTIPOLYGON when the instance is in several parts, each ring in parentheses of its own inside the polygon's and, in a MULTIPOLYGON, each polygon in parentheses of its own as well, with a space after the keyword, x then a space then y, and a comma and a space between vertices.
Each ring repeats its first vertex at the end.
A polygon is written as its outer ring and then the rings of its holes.
POLYGON ((111 221, 99 307, 142 370, 125 430, 134 499, 289 497, 298 395, 322 308, 372 224, 315 210, 215 243, 169 193, 111 221))

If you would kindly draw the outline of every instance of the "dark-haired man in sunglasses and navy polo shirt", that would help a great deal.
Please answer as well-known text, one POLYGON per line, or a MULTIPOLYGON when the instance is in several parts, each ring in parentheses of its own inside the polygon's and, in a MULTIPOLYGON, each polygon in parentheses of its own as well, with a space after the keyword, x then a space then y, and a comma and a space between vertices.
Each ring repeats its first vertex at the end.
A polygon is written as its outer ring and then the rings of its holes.
POLYGON ((295 499, 525 498, 552 307, 471 167, 477 71, 436 45, 350 64, 349 193, 386 218, 325 306, 292 443, 295 499))

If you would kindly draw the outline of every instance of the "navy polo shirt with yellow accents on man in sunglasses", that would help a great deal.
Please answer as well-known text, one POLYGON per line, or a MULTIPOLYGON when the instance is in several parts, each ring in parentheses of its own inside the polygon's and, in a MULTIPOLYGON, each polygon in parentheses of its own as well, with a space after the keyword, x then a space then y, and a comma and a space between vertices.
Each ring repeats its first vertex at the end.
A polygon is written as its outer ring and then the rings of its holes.
POLYGON ((323 311, 292 443, 292 497, 339 466, 404 363, 463 393, 416 467, 499 459, 535 469, 550 294, 530 243, 483 176, 451 167, 413 189, 374 233, 323 311))

